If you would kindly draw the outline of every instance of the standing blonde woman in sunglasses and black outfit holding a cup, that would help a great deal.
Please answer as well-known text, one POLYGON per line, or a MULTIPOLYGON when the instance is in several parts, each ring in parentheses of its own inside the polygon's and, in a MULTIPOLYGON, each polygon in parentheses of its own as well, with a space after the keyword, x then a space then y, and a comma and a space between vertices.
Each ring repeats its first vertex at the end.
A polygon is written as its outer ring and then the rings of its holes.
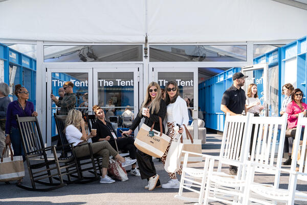
MULTIPOLYGON (((142 103, 140 111, 133 124, 128 131, 125 131, 122 134, 130 135, 139 126, 143 117, 145 125, 151 127, 153 122, 155 122, 153 129, 160 131, 159 117, 161 117, 163 121, 165 114, 166 105, 161 96, 161 88, 156 82, 151 82, 147 87, 145 100, 142 103), (143 111, 143 108, 146 109, 143 111)), ((161 132, 164 133, 164 126, 162 126, 162 129, 163 130, 161 132)), ((136 154, 141 178, 148 180, 148 185, 145 186, 145 189, 151 191, 155 188, 161 187, 159 175, 156 172, 155 165, 153 165, 152 157, 140 150, 137 150, 136 154)))

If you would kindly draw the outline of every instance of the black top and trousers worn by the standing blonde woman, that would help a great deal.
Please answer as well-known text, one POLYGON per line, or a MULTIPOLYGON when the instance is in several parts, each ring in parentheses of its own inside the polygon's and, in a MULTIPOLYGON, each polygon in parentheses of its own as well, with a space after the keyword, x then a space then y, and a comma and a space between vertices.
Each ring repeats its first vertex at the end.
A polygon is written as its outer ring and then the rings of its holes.
MULTIPOLYGON (((146 117, 143 115, 137 114, 137 117, 135 118, 133 124, 131 125, 130 129, 135 130, 140 122, 141 119, 144 117, 144 124, 151 127, 153 124, 153 121, 155 121, 155 126, 153 129, 160 131, 160 124, 159 124, 159 117, 162 118, 162 121, 164 120, 164 117, 166 115, 166 104, 163 99, 160 101, 160 110, 156 111, 154 114, 151 114, 151 109, 149 110, 150 117, 146 117)), ((164 126, 162 125, 163 133, 165 132, 164 126)), ((152 156, 145 154, 144 152, 137 150, 137 160, 138 160, 138 165, 140 169, 140 174, 142 179, 149 179, 149 177, 155 176, 157 174, 155 165, 153 165, 152 162, 152 156)), ((157 182, 157 186, 159 186, 160 180, 157 182)))

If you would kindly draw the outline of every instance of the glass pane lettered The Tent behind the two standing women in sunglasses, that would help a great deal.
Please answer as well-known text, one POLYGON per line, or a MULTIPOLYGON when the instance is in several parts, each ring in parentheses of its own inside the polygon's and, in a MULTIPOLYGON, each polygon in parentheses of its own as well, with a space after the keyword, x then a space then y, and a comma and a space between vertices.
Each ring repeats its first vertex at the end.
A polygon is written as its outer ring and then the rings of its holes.
MULTIPOLYGON (((194 106, 194 73, 193 72, 158 72, 158 84, 165 89, 168 81, 175 81, 179 87, 180 96, 189 102, 189 120, 192 120, 194 106)), ((190 121, 191 123, 191 121, 190 121)))

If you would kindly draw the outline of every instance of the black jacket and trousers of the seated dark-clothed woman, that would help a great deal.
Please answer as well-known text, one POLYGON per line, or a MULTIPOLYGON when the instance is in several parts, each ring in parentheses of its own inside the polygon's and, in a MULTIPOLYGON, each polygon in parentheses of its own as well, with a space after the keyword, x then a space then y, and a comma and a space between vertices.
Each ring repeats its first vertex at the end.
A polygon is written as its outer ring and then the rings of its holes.
MULTIPOLYGON (((111 138, 108 140, 109 144, 116 150, 115 139, 112 135, 112 132, 115 133, 110 122, 106 121, 106 125, 99 119, 93 125, 93 128, 97 129, 97 135, 92 137, 93 142, 99 141, 100 138, 105 138, 106 136, 110 136, 111 138), (112 131, 112 132, 111 132, 112 131)), ((134 146, 134 138, 133 137, 122 137, 116 139, 117 147, 119 150, 129 151, 129 157, 131 159, 136 158, 136 147, 134 146)))

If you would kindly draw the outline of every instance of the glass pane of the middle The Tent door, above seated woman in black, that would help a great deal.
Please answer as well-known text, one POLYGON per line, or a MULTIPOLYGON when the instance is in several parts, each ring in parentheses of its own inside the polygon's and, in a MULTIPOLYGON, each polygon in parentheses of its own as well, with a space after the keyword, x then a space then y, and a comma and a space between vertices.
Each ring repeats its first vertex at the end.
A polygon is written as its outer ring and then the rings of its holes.
POLYGON ((128 130, 135 117, 134 72, 98 72, 97 77, 98 105, 105 119, 115 130, 128 130))

